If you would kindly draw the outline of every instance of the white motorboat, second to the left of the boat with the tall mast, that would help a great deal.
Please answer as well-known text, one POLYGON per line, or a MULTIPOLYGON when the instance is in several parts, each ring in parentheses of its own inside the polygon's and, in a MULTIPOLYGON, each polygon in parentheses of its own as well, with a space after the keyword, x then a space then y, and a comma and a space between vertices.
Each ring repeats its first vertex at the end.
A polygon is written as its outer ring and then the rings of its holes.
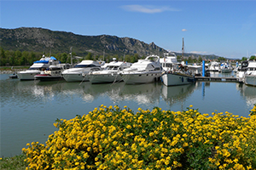
POLYGON ((88 79, 91 83, 121 82, 123 80, 119 72, 130 66, 131 63, 117 61, 116 58, 113 58, 113 61, 104 65, 102 71, 90 71, 88 79))

